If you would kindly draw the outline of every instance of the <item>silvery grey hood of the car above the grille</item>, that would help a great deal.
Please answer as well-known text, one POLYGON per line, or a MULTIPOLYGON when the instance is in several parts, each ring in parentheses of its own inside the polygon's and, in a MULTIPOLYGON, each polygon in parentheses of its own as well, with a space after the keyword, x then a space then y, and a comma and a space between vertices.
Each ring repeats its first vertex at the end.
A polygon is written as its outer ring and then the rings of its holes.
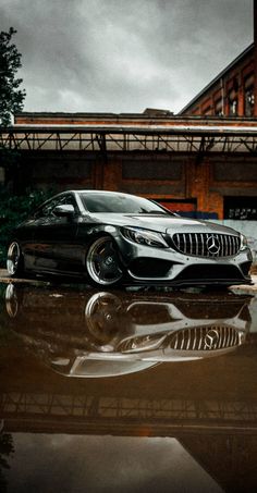
MULTIPOLYGON (((198 221, 197 219, 181 218, 178 215, 157 215, 157 214, 122 214, 122 213, 95 213, 96 222, 112 224, 117 226, 135 226, 147 230, 155 230, 160 233, 173 234, 183 233, 223 233, 235 234, 231 227, 221 224, 198 221)), ((237 233, 237 232, 236 232, 237 233)), ((240 233, 237 233, 240 234, 240 233)))

